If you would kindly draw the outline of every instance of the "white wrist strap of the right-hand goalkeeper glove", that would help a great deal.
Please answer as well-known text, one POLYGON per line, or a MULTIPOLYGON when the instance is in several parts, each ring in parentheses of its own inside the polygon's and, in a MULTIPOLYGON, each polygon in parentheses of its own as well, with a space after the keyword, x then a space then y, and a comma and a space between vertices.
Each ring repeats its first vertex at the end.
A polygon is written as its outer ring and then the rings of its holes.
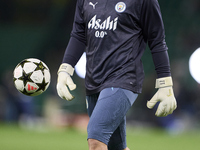
POLYGON ((172 78, 171 77, 164 77, 164 78, 158 78, 156 79, 156 86, 155 88, 162 88, 167 86, 172 86, 172 78))

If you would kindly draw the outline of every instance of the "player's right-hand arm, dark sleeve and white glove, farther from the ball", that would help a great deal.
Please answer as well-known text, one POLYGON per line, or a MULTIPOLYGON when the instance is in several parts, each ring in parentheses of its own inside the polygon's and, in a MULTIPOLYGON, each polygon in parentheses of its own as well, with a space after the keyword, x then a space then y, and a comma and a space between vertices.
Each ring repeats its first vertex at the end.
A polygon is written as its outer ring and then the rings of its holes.
POLYGON ((173 93, 173 82, 170 72, 168 48, 165 42, 164 25, 157 0, 144 0, 142 5, 141 25, 143 35, 149 48, 157 73, 156 94, 147 102, 148 108, 153 108, 160 102, 156 116, 163 117, 172 114, 176 109, 176 99, 173 93))

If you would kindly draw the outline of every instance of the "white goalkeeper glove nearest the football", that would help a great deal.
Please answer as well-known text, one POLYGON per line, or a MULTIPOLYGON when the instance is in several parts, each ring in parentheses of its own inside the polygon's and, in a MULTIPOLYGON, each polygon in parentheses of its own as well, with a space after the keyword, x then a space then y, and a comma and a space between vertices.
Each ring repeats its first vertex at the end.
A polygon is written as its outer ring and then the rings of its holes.
POLYGON ((60 68, 58 70, 58 80, 57 80, 57 93, 62 99, 66 99, 68 101, 71 101, 74 96, 70 94, 69 89, 75 90, 76 89, 76 84, 74 84, 71 76, 74 73, 74 68, 67 64, 63 63, 60 65, 60 68))

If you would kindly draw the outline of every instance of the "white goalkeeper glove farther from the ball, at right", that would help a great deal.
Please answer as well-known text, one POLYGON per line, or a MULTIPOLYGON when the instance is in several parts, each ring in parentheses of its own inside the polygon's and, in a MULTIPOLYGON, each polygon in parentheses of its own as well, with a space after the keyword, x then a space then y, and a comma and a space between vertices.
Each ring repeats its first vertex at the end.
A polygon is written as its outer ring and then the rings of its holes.
POLYGON ((147 102, 147 107, 152 109, 157 102, 160 102, 155 114, 157 117, 165 117, 172 114, 177 107, 172 85, 171 77, 156 79, 156 88, 158 88, 158 91, 152 99, 147 102))

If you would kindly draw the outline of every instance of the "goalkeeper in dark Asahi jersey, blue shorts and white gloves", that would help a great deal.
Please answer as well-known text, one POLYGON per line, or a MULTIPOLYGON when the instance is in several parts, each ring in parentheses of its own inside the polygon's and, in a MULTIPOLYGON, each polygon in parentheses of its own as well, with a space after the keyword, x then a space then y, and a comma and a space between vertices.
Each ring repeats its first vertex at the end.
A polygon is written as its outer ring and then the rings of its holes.
POLYGON ((71 38, 58 70, 57 92, 68 101, 74 66, 86 52, 86 99, 90 116, 89 150, 129 150, 126 113, 142 92, 141 57, 147 46, 157 73, 158 91, 147 102, 156 116, 176 109, 168 48, 157 0, 77 0, 71 38))

